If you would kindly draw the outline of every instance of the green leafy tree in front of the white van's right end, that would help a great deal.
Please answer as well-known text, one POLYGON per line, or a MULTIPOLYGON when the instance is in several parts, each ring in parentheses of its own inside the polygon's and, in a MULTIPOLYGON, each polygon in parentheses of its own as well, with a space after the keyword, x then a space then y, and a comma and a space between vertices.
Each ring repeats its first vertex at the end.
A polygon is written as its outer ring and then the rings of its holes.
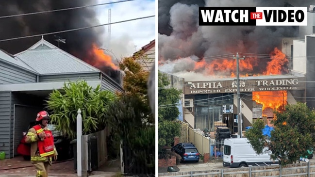
POLYGON ((253 149, 261 154, 271 150, 271 158, 280 160, 282 165, 298 161, 300 156, 306 156, 307 150, 314 148, 315 143, 315 112, 306 104, 298 102, 286 105, 285 110, 276 112, 272 121, 274 131, 269 140, 262 135, 264 122, 256 120, 246 137, 253 149))

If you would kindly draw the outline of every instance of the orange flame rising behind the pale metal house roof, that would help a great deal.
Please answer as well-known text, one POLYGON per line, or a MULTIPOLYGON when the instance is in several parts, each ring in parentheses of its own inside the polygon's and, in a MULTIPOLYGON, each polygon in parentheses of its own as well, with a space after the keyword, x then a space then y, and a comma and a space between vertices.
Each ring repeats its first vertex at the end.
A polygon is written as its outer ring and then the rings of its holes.
POLYGON ((115 70, 118 69, 118 67, 112 62, 112 57, 106 55, 96 44, 92 45, 92 49, 89 52, 89 59, 86 61, 99 69, 103 66, 109 66, 115 70))

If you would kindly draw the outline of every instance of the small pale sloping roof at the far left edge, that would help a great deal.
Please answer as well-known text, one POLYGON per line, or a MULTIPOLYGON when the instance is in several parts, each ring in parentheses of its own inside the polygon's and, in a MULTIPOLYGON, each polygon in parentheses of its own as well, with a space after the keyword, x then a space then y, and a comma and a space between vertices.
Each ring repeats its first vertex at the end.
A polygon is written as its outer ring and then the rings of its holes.
POLYGON ((37 72, 32 68, 30 67, 29 65, 23 63, 22 61, 20 60, 17 60, 14 58, 13 55, 11 55, 10 53, 0 49, 0 60, 4 61, 5 63, 9 63, 9 64, 12 64, 12 65, 15 65, 19 68, 23 68, 27 71, 31 71, 33 72, 34 74, 36 74, 37 72))

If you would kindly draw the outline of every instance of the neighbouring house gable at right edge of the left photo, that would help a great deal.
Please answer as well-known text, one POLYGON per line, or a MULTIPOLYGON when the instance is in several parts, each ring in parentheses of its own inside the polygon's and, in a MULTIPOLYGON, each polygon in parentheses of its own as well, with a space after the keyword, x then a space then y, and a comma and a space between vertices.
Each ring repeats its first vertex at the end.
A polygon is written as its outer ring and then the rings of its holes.
POLYGON ((133 56, 140 52, 143 55, 147 55, 147 58, 139 58, 137 62, 141 64, 144 70, 150 71, 155 63, 155 39, 150 41, 149 44, 143 46, 139 51, 133 53, 133 56))

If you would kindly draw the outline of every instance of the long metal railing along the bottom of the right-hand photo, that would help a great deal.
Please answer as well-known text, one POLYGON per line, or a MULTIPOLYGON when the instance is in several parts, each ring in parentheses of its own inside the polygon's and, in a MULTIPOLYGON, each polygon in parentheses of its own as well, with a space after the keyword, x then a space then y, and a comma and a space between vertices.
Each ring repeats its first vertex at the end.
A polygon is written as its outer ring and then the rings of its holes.
POLYGON ((315 163, 159 173, 159 177, 315 177, 315 163))

